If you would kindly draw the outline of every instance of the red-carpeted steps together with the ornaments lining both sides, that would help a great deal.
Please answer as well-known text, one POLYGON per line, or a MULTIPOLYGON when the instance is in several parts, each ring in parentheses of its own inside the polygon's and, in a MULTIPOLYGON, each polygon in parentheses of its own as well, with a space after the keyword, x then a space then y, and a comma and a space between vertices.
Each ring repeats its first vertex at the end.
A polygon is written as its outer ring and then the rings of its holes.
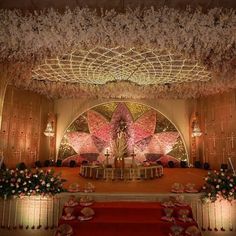
MULTIPOLYGON (((179 205, 178 201, 173 206, 166 207, 165 202, 91 202, 89 206, 81 204, 74 197, 74 201, 64 207, 59 225, 70 225, 73 235, 193 235, 188 231, 194 230, 200 236, 195 220, 192 218, 192 209, 188 204, 179 205), (167 214, 166 209, 172 213, 167 214), (170 216, 171 217, 170 217, 170 216), (105 226, 105 227, 104 227, 105 226), (175 234, 176 233, 176 234, 175 234)), ((60 227, 59 227, 60 229, 60 227)), ((60 232, 56 234, 60 235, 60 232)))

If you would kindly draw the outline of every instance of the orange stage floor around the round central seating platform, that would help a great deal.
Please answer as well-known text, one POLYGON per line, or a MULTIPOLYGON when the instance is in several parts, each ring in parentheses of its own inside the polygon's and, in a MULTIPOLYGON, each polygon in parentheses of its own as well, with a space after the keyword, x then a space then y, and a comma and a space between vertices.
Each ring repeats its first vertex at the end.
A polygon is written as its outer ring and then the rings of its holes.
POLYGON ((158 179, 150 180, 96 180, 81 177, 79 167, 53 167, 56 173, 61 173, 62 178, 67 181, 64 187, 68 188, 72 183, 78 183, 83 188, 91 182, 96 193, 130 193, 130 194, 155 194, 170 193, 173 183, 186 185, 194 183, 197 190, 201 190, 207 171, 197 168, 164 168, 164 175, 158 179))

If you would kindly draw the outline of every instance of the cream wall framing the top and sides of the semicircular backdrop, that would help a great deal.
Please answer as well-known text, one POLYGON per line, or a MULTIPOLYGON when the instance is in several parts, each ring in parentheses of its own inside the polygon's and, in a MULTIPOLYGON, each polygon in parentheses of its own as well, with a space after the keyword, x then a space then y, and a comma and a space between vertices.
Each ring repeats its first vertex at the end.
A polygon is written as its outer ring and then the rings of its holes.
POLYGON ((78 115, 91 107, 111 101, 133 101, 153 107, 160 111, 182 134, 189 153, 189 101, 188 100, 111 100, 111 99, 59 99, 55 101, 55 113, 57 114, 57 138, 56 149, 58 152, 61 139, 67 127, 78 115))

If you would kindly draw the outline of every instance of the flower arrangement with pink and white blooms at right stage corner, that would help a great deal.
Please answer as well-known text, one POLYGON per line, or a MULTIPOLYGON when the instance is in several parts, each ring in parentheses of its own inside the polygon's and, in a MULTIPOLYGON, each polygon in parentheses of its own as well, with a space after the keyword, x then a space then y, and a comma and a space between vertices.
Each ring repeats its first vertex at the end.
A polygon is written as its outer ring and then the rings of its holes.
POLYGON ((226 173, 222 169, 220 171, 215 170, 208 172, 205 181, 206 183, 203 186, 204 201, 232 201, 236 199, 236 176, 233 174, 226 173))

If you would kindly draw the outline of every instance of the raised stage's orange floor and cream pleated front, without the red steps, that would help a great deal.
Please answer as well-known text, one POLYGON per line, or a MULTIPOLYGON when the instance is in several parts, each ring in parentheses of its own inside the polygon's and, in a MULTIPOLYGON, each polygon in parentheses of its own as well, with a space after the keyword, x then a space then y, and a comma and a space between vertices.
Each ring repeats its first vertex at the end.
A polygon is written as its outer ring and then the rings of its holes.
MULTIPOLYGON (((207 175, 206 170, 196 168, 164 168, 164 175, 159 179, 106 181, 85 179, 79 175, 79 168, 53 167, 53 169, 56 173, 60 172, 62 178, 67 179, 67 182, 64 183, 65 188, 68 188, 72 183, 78 183, 82 189, 88 182, 91 182, 96 189, 89 195, 95 202, 107 204, 108 202, 147 202, 147 204, 163 202, 169 200, 170 196, 177 196, 175 193, 171 193, 173 183, 183 185, 194 183, 196 189, 200 191, 204 184, 204 177, 207 175)), ((235 235, 236 202, 221 201, 217 204, 203 204, 202 194, 200 192, 183 193, 184 201, 189 203, 199 228, 204 230, 203 235, 208 235, 205 230, 212 231, 214 229, 218 231, 224 229, 225 236, 235 235)), ((63 192, 53 198, 32 196, 12 198, 6 202, 0 201, 0 212, 2 212, 0 222, 5 227, 5 229, 0 228, 0 235, 52 236, 62 215, 63 206, 71 195, 70 192, 63 192), (24 229, 19 230, 19 225, 23 225, 24 229), (38 225, 42 227, 35 228, 38 225), (8 226, 11 231, 6 229, 8 226), (17 226, 16 230, 12 230, 14 226, 17 226), (26 230, 26 226, 29 226, 28 230, 26 230), (31 230, 32 227, 34 230, 31 230), (47 230, 45 230, 46 228, 47 230)), ((78 192, 73 195, 80 199, 81 196, 88 195, 88 193, 78 192)))

